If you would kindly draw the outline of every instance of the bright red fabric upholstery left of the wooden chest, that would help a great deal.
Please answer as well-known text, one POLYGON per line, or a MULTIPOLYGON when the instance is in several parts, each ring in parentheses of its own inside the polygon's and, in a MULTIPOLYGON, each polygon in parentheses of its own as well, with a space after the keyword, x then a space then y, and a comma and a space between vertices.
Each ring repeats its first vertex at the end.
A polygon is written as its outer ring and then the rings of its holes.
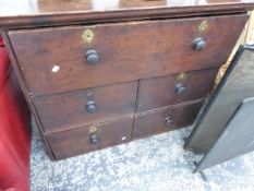
POLYGON ((0 190, 29 190, 29 118, 7 51, 0 47, 0 190))

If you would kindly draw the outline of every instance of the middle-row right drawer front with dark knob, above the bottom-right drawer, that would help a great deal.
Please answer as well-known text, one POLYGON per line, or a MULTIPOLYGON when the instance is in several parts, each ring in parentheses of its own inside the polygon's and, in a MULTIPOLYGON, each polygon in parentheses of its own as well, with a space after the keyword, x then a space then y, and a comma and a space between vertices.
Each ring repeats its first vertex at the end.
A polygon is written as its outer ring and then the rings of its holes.
POLYGON ((137 111, 204 98, 214 85, 218 69, 143 80, 138 85, 137 111))

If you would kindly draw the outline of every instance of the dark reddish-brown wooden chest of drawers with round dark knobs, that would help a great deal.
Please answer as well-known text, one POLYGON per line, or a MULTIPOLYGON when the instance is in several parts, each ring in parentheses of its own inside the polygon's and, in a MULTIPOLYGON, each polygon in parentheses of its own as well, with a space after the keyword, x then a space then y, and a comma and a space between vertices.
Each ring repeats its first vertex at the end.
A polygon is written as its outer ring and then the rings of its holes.
POLYGON ((254 8, 35 2, 26 12, 0 11, 0 27, 53 159, 192 124, 254 8))

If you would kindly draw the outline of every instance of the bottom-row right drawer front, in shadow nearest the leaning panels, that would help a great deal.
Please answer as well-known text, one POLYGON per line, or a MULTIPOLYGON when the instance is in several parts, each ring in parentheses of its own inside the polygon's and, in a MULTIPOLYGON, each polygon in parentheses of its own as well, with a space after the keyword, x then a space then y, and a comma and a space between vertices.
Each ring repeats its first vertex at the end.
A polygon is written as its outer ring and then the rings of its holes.
POLYGON ((191 126, 203 102, 140 114, 134 119, 134 139, 191 126))

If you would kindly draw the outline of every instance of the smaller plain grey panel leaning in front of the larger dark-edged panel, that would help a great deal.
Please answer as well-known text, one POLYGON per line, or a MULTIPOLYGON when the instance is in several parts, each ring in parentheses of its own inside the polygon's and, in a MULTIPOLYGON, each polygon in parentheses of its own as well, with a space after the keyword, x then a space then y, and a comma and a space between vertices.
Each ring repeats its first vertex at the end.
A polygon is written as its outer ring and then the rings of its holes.
POLYGON ((195 171, 201 171, 228 159, 254 151, 254 98, 243 100, 219 139, 201 160, 195 171))

